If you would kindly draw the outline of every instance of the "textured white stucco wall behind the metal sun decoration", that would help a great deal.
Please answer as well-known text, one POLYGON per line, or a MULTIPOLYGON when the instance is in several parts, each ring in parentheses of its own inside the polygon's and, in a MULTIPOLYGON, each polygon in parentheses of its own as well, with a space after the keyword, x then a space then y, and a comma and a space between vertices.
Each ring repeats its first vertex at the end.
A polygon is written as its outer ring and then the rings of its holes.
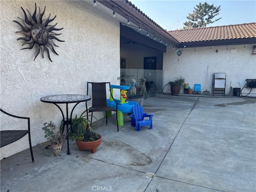
MULTIPOLYGON (((60 124, 62 116, 53 104, 40 102, 40 97, 51 94, 86 94, 86 82, 111 82, 117 84, 120 76, 120 26, 117 20, 98 12, 83 1, 36 1, 41 11, 46 6, 43 19, 51 13, 56 18, 50 24, 64 28, 56 33, 65 42, 54 42, 59 54, 52 53, 53 62, 37 56, 35 48, 20 50, 23 36, 16 34, 21 28, 12 20, 21 22, 24 10, 34 13, 33 1, 1 1, 1 108, 11 114, 28 116, 31 121, 32 145, 44 142, 42 126, 52 120, 60 124)), ((26 46, 26 45, 25 45, 26 46)), ((116 93, 115 93, 116 94, 116 93)), ((88 102, 89 106, 91 105, 88 102)), ((74 104, 69 105, 72 109, 74 104)), ((65 109, 65 104, 61 107, 65 109)), ((85 104, 76 107, 74 114, 85 110, 85 104)), ((65 110, 64 110, 65 111, 65 110)), ((96 113, 103 118, 103 113, 96 113)), ((1 130, 17 129, 13 122, 1 114, 1 130)), ((29 148, 28 137, 1 148, 1 159, 29 148)))

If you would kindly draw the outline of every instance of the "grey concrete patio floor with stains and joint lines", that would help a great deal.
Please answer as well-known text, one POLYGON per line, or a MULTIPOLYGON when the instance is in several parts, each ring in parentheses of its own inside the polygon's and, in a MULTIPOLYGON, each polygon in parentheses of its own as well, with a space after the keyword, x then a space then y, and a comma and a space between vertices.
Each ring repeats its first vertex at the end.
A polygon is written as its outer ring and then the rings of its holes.
POLYGON ((93 122, 96 153, 70 140, 58 156, 42 146, 1 160, 1 192, 255 192, 256 98, 169 96, 144 100, 153 129, 93 122), (147 178, 146 173, 156 174, 147 178))

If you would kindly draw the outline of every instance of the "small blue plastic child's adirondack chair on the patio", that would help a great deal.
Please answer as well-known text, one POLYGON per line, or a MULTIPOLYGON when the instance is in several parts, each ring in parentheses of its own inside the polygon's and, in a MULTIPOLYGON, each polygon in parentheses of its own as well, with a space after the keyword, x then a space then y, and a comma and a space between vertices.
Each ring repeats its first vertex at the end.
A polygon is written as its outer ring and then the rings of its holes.
POLYGON ((152 117, 153 115, 148 115, 147 113, 143 113, 143 107, 139 104, 136 104, 132 108, 133 114, 130 115, 130 118, 132 119, 131 126, 136 126, 136 131, 140 131, 140 128, 142 126, 150 126, 150 129, 152 129, 152 117), (147 118, 144 120, 144 118, 147 118), (148 119, 149 118, 149 119, 148 119))

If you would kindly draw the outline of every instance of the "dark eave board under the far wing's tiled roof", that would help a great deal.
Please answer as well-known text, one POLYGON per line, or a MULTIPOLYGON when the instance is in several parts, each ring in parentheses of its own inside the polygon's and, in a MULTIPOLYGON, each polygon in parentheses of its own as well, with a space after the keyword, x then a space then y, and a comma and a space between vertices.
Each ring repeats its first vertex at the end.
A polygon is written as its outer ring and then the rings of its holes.
POLYGON ((231 46, 242 44, 256 44, 256 38, 240 38, 240 39, 228 39, 228 40, 209 40, 198 42, 181 42, 177 48, 194 48, 194 47, 207 47, 207 46, 231 46))

